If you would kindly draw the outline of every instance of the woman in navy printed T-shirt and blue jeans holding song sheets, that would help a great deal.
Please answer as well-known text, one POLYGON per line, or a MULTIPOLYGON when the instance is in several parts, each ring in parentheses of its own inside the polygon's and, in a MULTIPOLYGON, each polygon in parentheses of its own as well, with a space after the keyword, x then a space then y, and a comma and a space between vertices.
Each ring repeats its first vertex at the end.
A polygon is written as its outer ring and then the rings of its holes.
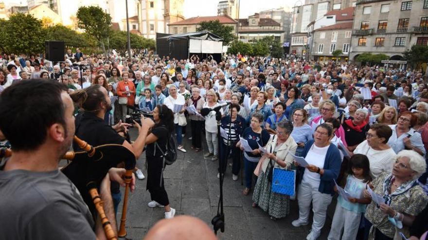
MULTIPOLYGON (((252 176, 262 155, 260 155, 259 145, 265 146, 269 141, 269 133, 262 128, 263 114, 255 112, 251 116, 250 127, 245 128, 242 138, 247 140, 252 151, 244 151, 244 171, 245 171, 245 189, 242 194, 248 195, 251 190, 252 176)), ((236 144, 241 150, 244 148, 241 141, 236 144)))

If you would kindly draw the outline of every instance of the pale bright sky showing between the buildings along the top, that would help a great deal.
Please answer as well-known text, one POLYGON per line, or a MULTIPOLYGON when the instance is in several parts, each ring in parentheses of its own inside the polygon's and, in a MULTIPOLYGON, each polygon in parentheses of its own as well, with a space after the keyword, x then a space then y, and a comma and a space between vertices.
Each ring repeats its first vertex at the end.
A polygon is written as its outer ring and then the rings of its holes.
MULTIPOLYGON (((0 0, 9 3, 26 5, 27 0, 0 0)), ((89 0, 90 1, 90 0, 89 0)), ((184 0, 184 17, 193 16, 216 16, 217 3, 219 0, 184 0)), ((239 18, 245 18, 256 12, 293 6, 296 0, 240 0, 239 18), (263 4, 260 4, 263 2, 263 4)))

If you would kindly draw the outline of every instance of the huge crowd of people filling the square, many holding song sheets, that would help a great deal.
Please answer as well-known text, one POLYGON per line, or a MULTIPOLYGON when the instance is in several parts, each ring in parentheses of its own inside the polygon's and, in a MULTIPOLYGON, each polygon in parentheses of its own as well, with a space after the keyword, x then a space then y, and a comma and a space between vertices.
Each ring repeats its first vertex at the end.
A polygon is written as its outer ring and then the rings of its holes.
MULTIPOLYGON (((172 137, 178 151, 219 160, 218 178, 228 176, 228 165, 233 181, 243 171, 242 194, 273 221, 286 218, 296 200, 292 225, 307 225, 312 205, 307 240, 321 235, 338 193, 329 240, 426 239, 428 85, 421 71, 239 53, 217 61, 69 53, 55 64, 35 55, 3 56, 0 99, 33 79, 62 83, 74 101, 77 136, 93 145, 123 144, 137 158, 147 146, 148 206, 164 208, 165 218, 175 215, 162 175, 172 137), (139 135, 131 144, 126 128, 133 112, 153 121, 133 122, 139 135), (98 136, 86 131, 94 122, 98 136), (296 171, 295 195, 272 192, 274 169, 296 171)), ((6 133, 1 127, 0 121, 6 133)))

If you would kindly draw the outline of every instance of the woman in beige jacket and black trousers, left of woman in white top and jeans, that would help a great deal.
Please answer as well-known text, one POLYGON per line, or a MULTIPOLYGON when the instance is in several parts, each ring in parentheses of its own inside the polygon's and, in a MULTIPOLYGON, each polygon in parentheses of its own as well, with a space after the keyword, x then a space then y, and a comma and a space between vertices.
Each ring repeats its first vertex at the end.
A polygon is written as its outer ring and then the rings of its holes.
MULTIPOLYGON (((200 96, 200 90, 197 87, 192 88, 192 96, 187 100, 187 106, 194 106, 196 111, 200 110, 205 104, 205 99, 200 96)), ((199 152, 202 149, 202 126, 205 119, 197 114, 189 114, 190 126, 192 128, 192 146, 191 149, 199 152)))

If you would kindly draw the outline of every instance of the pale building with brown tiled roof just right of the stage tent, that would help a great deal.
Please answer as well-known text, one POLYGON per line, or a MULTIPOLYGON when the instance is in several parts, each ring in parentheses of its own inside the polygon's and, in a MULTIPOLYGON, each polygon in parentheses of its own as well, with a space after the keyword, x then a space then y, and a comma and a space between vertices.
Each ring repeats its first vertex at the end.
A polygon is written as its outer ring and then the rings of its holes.
POLYGON ((239 19, 238 38, 241 42, 257 42, 267 36, 283 42, 284 35, 281 23, 274 19, 261 18, 259 14, 239 19))

